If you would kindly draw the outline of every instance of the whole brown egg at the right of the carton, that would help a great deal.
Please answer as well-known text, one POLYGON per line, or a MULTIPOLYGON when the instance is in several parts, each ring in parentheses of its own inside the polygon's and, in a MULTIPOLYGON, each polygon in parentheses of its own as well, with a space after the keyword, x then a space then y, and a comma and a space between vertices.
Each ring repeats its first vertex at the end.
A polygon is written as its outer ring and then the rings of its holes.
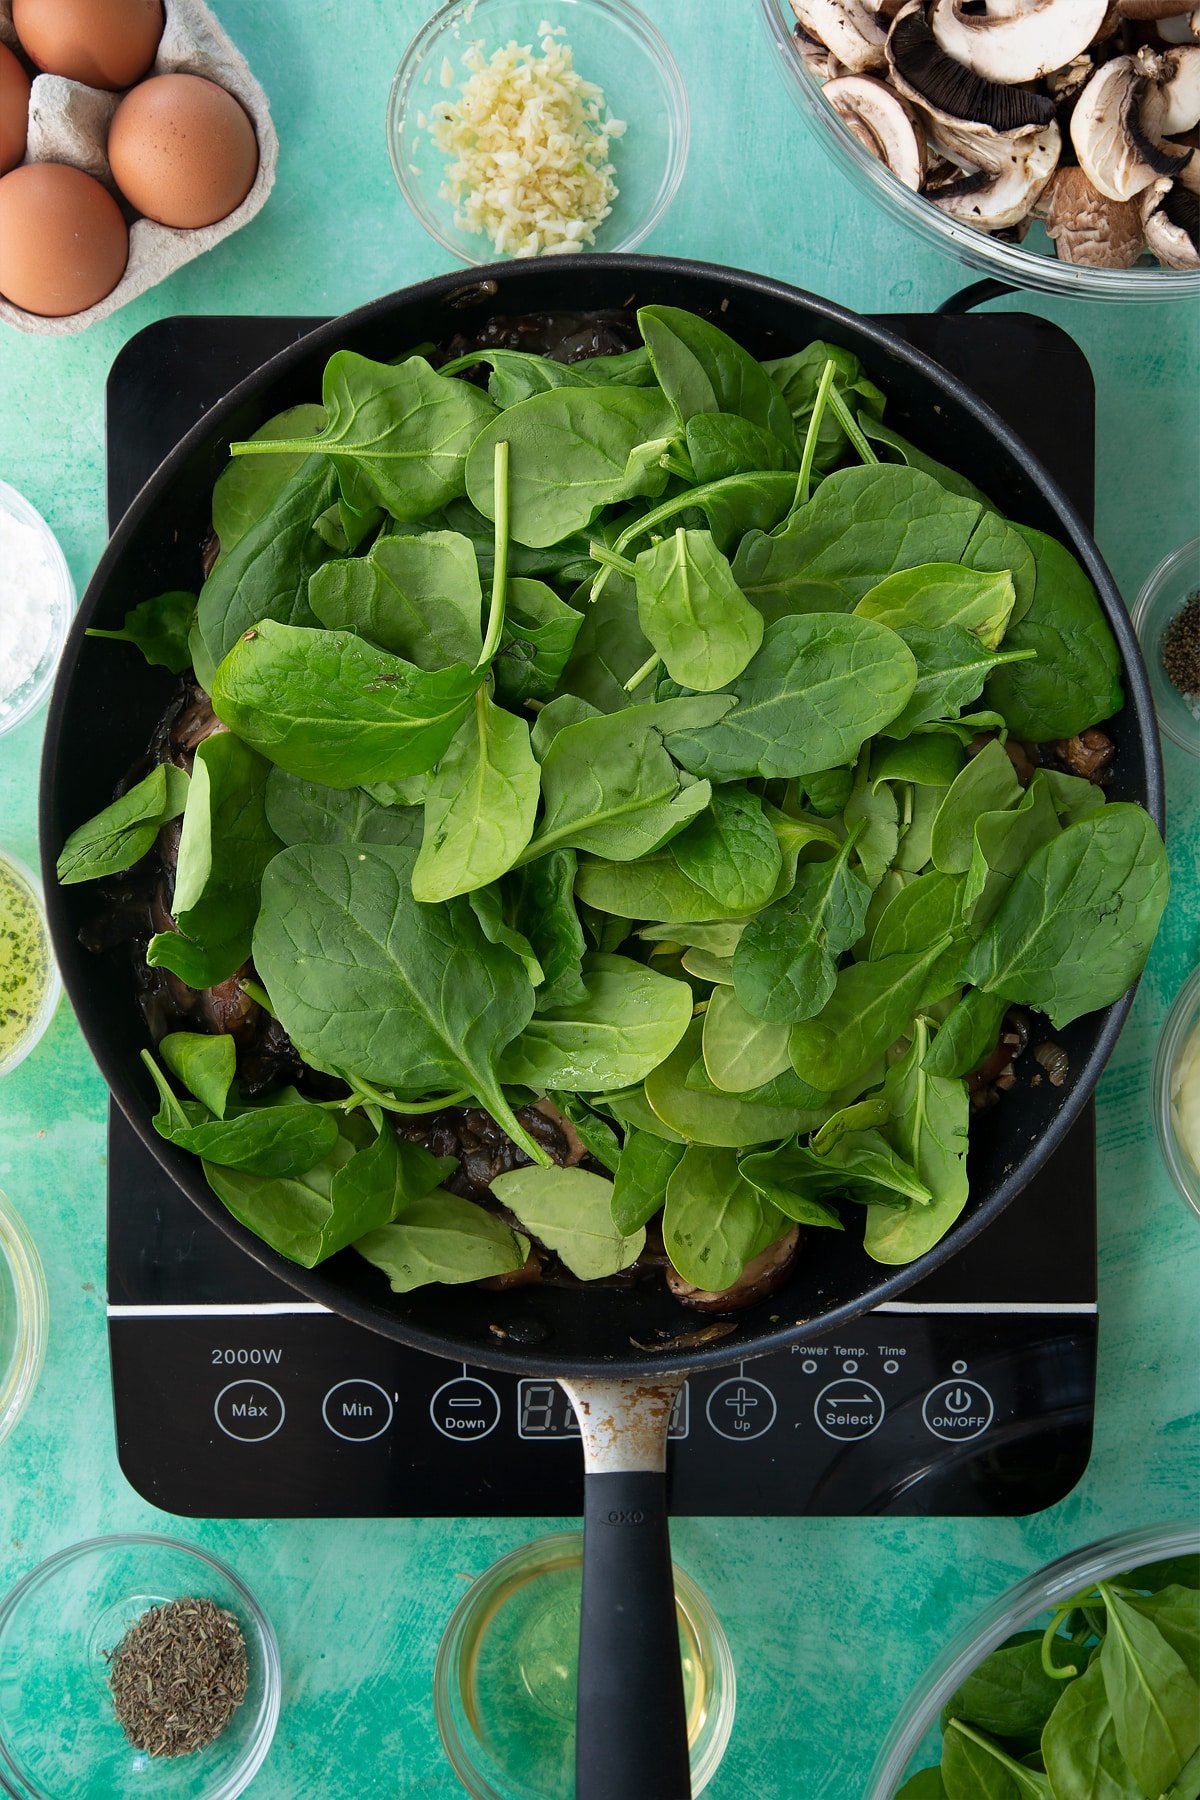
POLYGON ((216 225, 254 187, 259 146, 241 104, 203 76, 153 76, 117 106, 108 162, 131 207, 160 225, 216 225))

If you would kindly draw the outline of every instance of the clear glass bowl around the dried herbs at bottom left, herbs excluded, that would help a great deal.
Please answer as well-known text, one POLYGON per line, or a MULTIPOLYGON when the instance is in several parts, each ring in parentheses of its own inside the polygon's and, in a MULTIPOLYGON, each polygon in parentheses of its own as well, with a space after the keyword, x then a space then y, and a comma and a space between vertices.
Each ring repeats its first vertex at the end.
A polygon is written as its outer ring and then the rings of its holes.
POLYGON ((0 1787, 18 1800, 234 1800, 270 1750, 279 1688, 275 1633, 230 1568, 169 1537, 92 1537, 0 1604, 0 1787), (149 1757, 117 1723, 104 1652, 151 1606, 185 1597, 237 1616, 250 1685, 205 1750, 149 1757))

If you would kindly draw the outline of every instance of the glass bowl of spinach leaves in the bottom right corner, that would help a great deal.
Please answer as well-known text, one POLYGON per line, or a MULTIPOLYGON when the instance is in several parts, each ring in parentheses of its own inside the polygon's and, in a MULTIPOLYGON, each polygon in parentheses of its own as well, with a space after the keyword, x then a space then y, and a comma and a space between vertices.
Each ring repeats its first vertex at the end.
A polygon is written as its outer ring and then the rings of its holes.
POLYGON ((1018 1582, 939 1656, 867 1800, 1195 1800, 1200 1532, 1121 1532, 1018 1582))

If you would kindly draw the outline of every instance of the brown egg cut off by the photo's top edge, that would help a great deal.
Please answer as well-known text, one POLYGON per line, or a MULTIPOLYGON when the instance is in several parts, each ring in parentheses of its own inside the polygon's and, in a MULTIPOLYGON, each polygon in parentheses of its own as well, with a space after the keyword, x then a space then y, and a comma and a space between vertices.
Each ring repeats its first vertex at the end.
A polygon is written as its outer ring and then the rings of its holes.
POLYGON ((155 61, 162 0, 13 0, 13 23, 49 76, 128 88, 155 61))

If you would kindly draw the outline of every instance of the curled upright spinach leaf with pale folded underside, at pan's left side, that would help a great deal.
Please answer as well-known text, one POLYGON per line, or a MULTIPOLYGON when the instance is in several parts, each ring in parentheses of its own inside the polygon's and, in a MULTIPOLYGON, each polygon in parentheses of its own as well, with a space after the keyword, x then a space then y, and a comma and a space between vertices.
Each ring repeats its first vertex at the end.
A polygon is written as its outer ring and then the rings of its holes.
POLYGON ((263 869, 279 850, 266 823, 268 774, 228 731, 196 747, 171 896, 176 929, 146 949, 151 968, 171 968, 191 988, 216 986, 250 956, 263 869))

